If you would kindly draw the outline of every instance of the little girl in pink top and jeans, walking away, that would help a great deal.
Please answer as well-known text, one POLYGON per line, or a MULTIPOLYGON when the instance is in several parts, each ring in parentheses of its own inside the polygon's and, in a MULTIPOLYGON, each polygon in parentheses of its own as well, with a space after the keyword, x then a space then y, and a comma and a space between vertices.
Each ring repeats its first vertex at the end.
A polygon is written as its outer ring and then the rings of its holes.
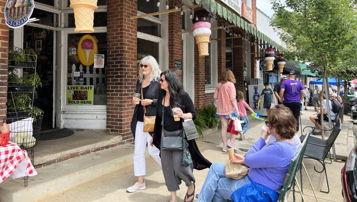
POLYGON ((255 112, 245 102, 243 92, 241 92, 241 91, 237 91, 237 107, 239 109, 240 120, 244 121, 244 123, 241 123, 242 132, 239 132, 239 135, 240 135, 239 138, 241 140, 243 140, 243 139, 247 139, 245 137, 245 133, 247 132, 248 124, 249 124, 247 111, 245 108, 247 108, 252 114, 254 114, 255 112))

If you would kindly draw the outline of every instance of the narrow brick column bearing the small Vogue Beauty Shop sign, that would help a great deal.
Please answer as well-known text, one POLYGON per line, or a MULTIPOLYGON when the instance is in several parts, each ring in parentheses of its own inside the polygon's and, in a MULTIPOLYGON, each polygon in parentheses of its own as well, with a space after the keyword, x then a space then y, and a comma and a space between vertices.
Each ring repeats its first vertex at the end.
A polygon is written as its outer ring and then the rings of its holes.
MULTIPOLYGON (((162 1, 162 3, 164 4, 165 1, 162 1)), ((181 1, 176 0, 176 4, 181 8, 181 1)), ((171 9, 175 8, 175 1, 169 1, 169 6, 171 9)), ((182 70, 174 69, 174 60, 182 61, 182 34, 178 34, 182 31, 181 21, 182 15, 180 12, 169 13, 169 69, 174 70, 182 80, 182 70)))

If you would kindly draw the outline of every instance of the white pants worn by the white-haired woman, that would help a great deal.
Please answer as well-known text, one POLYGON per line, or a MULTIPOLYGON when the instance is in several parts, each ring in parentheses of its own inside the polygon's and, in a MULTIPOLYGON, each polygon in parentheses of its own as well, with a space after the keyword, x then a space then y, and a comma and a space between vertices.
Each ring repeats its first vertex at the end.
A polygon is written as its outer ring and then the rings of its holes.
POLYGON ((150 141, 151 136, 149 133, 143 132, 144 122, 136 122, 136 132, 135 132, 135 149, 134 149, 134 175, 143 176, 146 174, 145 168, 145 148, 147 143, 147 151, 149 155, 159 163, 161 167, 160 150, 158 148, 151 147, 150 141))

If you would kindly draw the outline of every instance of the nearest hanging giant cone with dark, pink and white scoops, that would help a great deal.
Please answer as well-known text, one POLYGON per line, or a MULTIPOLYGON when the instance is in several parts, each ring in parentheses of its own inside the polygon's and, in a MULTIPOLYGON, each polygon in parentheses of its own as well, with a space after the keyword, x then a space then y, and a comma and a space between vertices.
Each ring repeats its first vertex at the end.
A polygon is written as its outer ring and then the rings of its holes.
POLYGON ((192 34, 198 45, 198 55, 207 56, 211 36, 210 14, 206 10, 197 10, 195 15, 198 20, 192 19, 192 34))

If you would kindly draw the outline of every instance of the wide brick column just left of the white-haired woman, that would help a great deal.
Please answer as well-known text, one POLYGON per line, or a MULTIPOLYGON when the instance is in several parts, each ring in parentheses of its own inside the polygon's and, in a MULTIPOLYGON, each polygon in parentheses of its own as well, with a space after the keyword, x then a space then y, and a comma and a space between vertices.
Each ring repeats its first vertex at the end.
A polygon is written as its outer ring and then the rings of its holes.
POLYGON ((137 0, 107 1, 107 128, 132 142, 131 103, 137 74, 137 0))

